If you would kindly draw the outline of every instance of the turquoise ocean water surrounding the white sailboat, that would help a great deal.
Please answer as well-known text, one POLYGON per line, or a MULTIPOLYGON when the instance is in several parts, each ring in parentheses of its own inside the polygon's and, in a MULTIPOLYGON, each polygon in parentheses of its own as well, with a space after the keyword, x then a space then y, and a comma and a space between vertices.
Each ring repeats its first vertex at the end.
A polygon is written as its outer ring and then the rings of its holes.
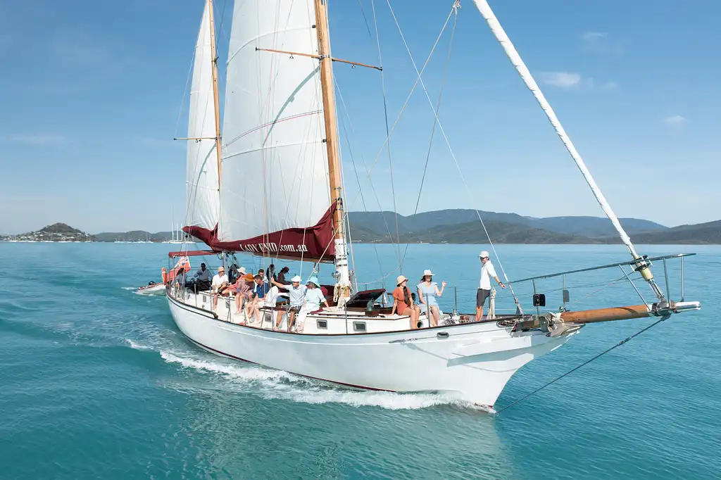
MULTIPOLYGON (((721 247, 640 247, 699 253, 686 262, 686 299, 702 301, 702 311, 674 316, 498 415, 442 394, 351 391, 198 350, 175 328, 164 297, 133 293, 159 279, 168 247, 0 244, 1 479, 721 476, 721 247)), ((415 280, 434 270, 448 280, 444 310, 455 293, 470 311, 479 249, 410 246, 403 273, 415 280)), ((627 256, 621 246, 497 249, 511 278, 627 256)), ((379 263, 387 272, 398 262, 386 245, 355 246, 354 257, 369 287, 378 285, 379 263)), ((678 262, 670 272, 678 299, 678 262)), ((322 267, 323 277, 330 273, 322 267)), ((663 285, 660 263, 655 274, 663 285)), ((606 286, 620 275, 570 277, 575 308, 640 303, 628 285, 606 286)), ((549 308, 559 305, 560 286, 539 283, 549 308)), ((517 293, 528 308, 531 286, 517 293)), ((510 307, 508 291, 499 295, 499 310, 510 307)), ((651 322, 585 327, 520 370, 496 408, 651 322)))

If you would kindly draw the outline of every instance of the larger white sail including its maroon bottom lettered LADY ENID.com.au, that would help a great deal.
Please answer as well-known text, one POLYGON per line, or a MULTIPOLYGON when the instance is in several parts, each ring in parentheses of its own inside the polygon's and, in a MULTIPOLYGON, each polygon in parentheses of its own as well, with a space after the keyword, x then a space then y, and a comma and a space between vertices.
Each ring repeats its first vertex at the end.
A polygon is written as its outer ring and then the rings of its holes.
POLYGON ((313 0, 236 1, 215 249, 332 259, 313 0), (277 53, 267 50, 283 50, 277 53))

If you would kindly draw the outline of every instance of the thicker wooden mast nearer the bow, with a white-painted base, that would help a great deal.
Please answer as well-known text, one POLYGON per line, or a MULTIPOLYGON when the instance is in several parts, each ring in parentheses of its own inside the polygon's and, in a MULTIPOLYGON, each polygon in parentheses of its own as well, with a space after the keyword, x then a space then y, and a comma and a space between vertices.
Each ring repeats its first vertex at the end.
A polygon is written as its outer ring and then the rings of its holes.
POLYGON ((327 0, 315 0, 316 31, 318 35, 318 53, 320 56, 320 82, 323 96, 323 115, 325 120, 325 143, 328 153, 328 175, 330 183, 330 201, 336 203, 333 215, 333 233, 335 237, 335 268, 337 271, 337 305, 342 306, 350 296, 350 273, 348 271, 348 252, 343 228, 342 182, 340 180, 340 151, 338 150, 338 131, 335 116, 335 91, 333 67, 330 56, 330 35, 328 32, 327 0))

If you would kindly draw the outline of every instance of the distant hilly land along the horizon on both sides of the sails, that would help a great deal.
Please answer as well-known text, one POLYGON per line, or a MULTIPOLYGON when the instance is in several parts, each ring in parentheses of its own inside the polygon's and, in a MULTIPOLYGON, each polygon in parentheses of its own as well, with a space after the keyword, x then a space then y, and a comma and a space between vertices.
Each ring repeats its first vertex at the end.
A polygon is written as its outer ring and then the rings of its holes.
MULTIPOLYGON (((567 216, 534 218, 517 213, 479 212, 492 241, 497 244, 620 244, 608 218, 567 216)), ((356 243, 486 244, 476 210, 453 209, 400 215, 394 212, 350 212, 350 236, 356 243), (396 222, 398 229, 396 231, 396 222)), ((621 218, 622 226, 637 244, 721 244, 721 221, 673 228, 640 218, 621 218)), ((0 236, 4 241, 170 241, 172 232, 136 230, 86 234, 65 223, 38 231, 0 236)), ((195 240, 195 239, 193 239, 195 240)))

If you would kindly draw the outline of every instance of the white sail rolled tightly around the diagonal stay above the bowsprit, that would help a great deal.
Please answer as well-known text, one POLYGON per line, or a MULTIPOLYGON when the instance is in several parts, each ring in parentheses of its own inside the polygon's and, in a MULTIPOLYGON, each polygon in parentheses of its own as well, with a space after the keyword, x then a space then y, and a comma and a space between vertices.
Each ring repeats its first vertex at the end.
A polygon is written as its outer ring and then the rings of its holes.
POLYGON ((491 32, 493 32, 493 35, 495 35, 496 40, 498 40, 498 43, 503 47, 503 50, 505 51, 505 54, 508 55, 508 58, 510 59, 510 63, 513 64, 514 67, 516 67, 516 71, 518 71, 518 74, 521 76, 521 79, 526 83, 526 86, 529 90, 531 90, 531 93, 534 94, 534 97, 536 97, 536 100, 538 100, 539 105, 541 105, 541 108, 546 113, 546 116, 548 117, 549 121, 551 122, 551 125, 553 125, 553 128, 556 129, 556 133, 558 133, 559 138, 561 138, 561 141, 566 146, 566 149, 568 150, 568 153, 571 155, 571 158, 573 161, 575 161, 576 165, 578 166, 578 169, 583 174, 583 178, 585 178, 586 182, 588 182, 588 186, 590 187, 590 190, 593 192, 593 195, 596 196, 596 200, 598 200, 599 205, 601 205, 601 208, 603 209, 603 212, 606 213, 606 216, 609 217, 611 220, 611 223, 613 223, 614 228, 616 228, 616 231, 618 232, 619 236, 621 237, 621 240, 624 242, 624 245, 627 246, 629 249, 629 252, 632 254, 632 256, 635 258, 638 258, 639 255, 636 253, 636 249, 634 248, 633 244, 631 243, 631 239, 629 239, 628 234, 626 231, 624 231, 624 228, 621 226, 621 223, 619 222, 619 218, 616 217, 616 213, 614 213, 614 210, 611 210, 611 205, 606 201, 606 197, 603 196, 603 193, 601 193, 601 189, 598 188, 598 185, 596 185, 596 181, 593 180, 593 177, 591 177, 590 172, 588 171, 588 168, 585 166, 585 163, 583 163, 583 159, 578 154, 578 151, 576 150, 575 146, 573 146, 573 143, 571 142, 571 139, 566 134, 566 130, 563 129, 563 126, 561 125, 560 121, 558 120, 558 117, 556 116, 556 113, 551 108, 551 104, 549 104, 546 97, 544 97, 543 92, 541 92, 541 89, 539 88, 538 84, 536 84, 536 80, 534 80, 534 77, 531 75, 531 71, 528 70, 528 67, 526 67, 526 63, 523 63, 523 60, 521 59, 521 55, 518 55, 518 51, 516 50, 516 47, 513 46, 513 43, 510 42, 510 38, 508 38, 508 35, 505 34, 505 30, 503 30, 503 27, 500 26, 500 22, 498 22, 498 19, 496 18, 495 14, 493 13, 490 5, 486 0, 474 0, 475 4, 478 8, 478 11, 481 12, 481 15, 483 18, 485 18, 486 22, 488 23, 488 26, 491 29, 491 32))

